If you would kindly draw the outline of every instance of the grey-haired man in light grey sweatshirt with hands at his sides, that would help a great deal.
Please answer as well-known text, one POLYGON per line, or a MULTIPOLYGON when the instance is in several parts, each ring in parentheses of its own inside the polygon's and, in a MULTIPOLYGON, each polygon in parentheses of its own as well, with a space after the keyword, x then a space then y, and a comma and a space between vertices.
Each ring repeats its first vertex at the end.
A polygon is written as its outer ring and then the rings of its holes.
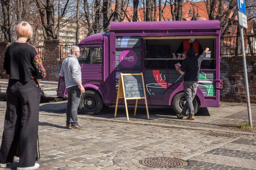
POLYGON ((66 89, 68 91, 68 102, 66 107, 66 128, 83 129, 78 124, 77 108, 79 106, 81 93, 84 93, 84 87, 81 80, 81 67, 78 63, 80 49, 78 46, 72 46, 70 55, 62 62, 60 77, 64 76, 66 89))

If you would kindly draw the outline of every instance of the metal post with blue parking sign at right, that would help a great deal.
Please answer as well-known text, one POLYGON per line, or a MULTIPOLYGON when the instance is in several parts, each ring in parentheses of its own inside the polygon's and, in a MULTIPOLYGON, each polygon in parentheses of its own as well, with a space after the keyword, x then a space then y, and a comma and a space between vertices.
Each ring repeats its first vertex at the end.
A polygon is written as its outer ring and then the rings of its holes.
POLYGON ((240 25, 239 27, 240 27, 241 47, 242 47, 242 54, 243 54, 247 110, 248 110, 249 124, 252 127, 250 93, 249 93, 249 86, 248 86, 247 66, 246 66, 245 49, 244 49, 244 32, 243 32, 243 27, 247 29, 247 17, 245 15, 245 0, 237 0, 237 4, 238 4, 238 9, 239 9, 238 21, 239 21, 239 25, 240 25))

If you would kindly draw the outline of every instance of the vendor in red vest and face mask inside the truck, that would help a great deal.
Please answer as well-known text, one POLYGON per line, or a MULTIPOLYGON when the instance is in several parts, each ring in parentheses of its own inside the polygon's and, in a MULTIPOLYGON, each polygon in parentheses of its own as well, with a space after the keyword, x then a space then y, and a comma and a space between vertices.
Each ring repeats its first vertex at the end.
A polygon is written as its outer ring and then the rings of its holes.
POLYGON ((194 38, 190 38, 190 39, 185 39, 180 44, 180 47, 177 49, 176 54, 186 52, 186 58, 187 58, 187 51, 190 47, 193 47, 196 50, 196 56, 200 56, 203 53, 203 49, 199 41, 197 41, 194 38))

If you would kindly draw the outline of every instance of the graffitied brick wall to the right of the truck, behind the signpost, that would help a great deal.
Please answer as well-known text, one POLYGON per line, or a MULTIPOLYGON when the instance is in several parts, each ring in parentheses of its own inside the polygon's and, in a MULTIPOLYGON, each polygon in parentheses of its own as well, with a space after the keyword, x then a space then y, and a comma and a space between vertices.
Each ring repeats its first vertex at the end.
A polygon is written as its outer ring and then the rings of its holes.
MULTIPOLYGON (((243 57, 222 57, 220 65, 220 101, 246 102, 243 57)), ((246 56, 246 65, 250 102, 256 103, 256 56, 246 56)))

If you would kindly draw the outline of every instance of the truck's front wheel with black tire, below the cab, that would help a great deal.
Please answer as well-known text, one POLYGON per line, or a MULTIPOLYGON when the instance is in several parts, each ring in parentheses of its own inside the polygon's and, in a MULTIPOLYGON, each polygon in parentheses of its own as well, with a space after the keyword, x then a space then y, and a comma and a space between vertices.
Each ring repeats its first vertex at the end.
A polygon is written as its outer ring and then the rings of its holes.
POLYGON ((85 90, 81 95, 79 110, 82 114, 97 114, 101 111, 103 102, 100 94, 95 90, 85 90))

